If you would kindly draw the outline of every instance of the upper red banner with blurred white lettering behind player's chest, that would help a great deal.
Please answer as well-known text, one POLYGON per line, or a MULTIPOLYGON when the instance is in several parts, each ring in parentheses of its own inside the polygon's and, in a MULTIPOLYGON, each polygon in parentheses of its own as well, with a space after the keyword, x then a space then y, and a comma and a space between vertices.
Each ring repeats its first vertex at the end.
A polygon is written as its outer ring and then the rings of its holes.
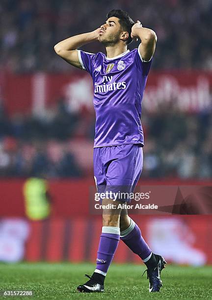
MULTIPOLYGON (((168 103, 178 110, 198 112, 212 105, 212 73, 150 72, 143 98, 143 108, 155 112, 168 103)), ((92 79, 86 72, 71 74, 32 74, 0 76, 1 97, 9 114, 42 113, 63 97, 70 111, 82 107, 93 110, 92 79)))

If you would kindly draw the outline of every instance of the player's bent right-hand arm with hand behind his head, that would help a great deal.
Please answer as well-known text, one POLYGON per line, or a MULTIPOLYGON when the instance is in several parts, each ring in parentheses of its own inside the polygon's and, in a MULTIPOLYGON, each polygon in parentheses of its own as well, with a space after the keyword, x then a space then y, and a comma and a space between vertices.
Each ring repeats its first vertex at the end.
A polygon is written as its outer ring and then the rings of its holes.
POLYGON ((140 21, 137 21, 132 26, 131 36, 133 39, 139 38, 141 40, 138 51, 140 51, 143 61, 149 61, 152 58, 156 48, 157 35, 155 31, 142 27, 140 21))

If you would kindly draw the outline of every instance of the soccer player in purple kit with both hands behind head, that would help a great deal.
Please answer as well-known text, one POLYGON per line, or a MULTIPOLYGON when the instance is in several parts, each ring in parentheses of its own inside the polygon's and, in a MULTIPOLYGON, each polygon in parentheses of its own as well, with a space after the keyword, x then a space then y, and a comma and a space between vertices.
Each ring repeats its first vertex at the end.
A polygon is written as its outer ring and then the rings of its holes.
MULTIPOLYGON (((127 187, 133 192, 143 164, 143 130, 140 122, 141 100, 157 42, 156 33, 134 23, 128 13, 111 10, 106 22, 96 30, 79 34, 54 46, 56 53, 71 65, 86 70, 93 79, 96 111, 94 141, 94 177, 98 191, 116 191, 127 187), (127 50, 132 40, 141 40, 138 49, 127 50), (77 50, 99 41, 106 55, 77 50)), ((125 190, 126 191, 126 190, 125 190)), ((159 292, 160 272, 166 263, 144 241, 139 227, 121 211, 123 199, 103 199, 114 204, 103 210, 103 227, 96 269, 89 280, 78 286, 79 292, 103 292, 107 270, 121 239, 147 266, 149 291, 159 292)))

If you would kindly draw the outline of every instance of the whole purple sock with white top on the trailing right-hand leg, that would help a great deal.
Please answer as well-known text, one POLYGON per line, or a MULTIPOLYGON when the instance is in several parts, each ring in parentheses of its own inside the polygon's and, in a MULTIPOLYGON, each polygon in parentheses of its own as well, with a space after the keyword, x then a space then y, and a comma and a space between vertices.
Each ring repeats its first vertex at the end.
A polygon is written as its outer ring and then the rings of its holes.
POLYGON ((135 254, 140 256, 145 264, 151 258, 152 251, 144 241, 140 228, 132 219, 130 226, 121 232, 120 240, 122 240, 135 254))

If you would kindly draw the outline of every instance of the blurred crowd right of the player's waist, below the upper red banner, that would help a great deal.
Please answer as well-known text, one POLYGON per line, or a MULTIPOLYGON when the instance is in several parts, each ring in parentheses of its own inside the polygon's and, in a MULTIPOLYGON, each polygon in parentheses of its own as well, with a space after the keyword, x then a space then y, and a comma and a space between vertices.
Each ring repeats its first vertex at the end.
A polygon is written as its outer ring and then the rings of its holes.
POLYGON ((142 123, 143 177, 212 178, 212 112, 185 114, 164 106, 144 114, 142 123))

